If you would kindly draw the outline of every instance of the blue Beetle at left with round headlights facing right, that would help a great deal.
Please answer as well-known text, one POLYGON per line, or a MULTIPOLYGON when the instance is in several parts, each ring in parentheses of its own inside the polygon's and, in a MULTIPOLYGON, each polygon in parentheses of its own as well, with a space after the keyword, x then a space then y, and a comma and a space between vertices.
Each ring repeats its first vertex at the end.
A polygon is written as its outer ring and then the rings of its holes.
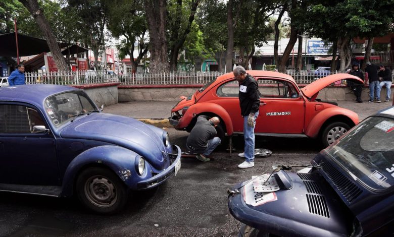
POLYGON ((0 88, 0 191, 69 197, 114 213, 129 190, 177 174, 181 151, 168 133, 103 113, 83 90, 59 85, 0 88))

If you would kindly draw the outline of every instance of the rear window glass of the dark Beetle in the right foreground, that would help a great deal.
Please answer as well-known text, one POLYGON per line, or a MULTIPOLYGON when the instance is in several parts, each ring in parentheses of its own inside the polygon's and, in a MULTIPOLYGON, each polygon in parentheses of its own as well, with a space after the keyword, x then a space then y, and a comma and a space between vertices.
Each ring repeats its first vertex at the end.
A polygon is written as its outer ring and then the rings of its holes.
POLYGON ((373 116, 325 150, 355 180, 374 190, 394 185, 394 119, 373 116))

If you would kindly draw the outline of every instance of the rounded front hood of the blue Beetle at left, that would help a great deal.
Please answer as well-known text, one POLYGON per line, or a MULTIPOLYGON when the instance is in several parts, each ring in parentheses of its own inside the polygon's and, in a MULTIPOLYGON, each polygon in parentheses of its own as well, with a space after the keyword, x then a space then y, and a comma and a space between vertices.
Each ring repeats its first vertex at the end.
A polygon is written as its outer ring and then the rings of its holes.
POLYGON ((89 139, 116 144, 143 156, 156 169, 163 169, 166 149, 162 134, 157 134, 134 118, 111 113, 91 113, 69 123, 62 138, 89 139))

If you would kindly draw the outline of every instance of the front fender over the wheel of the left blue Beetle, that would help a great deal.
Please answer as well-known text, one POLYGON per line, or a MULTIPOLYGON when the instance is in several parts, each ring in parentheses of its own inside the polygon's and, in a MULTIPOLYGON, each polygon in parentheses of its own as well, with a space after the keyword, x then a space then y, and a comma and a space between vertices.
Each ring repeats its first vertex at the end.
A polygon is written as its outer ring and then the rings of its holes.
POLYGON ((105 145, 88 149, 75 157, 63 176, 61 196, 71 196, 75 179, 81 168, 87 165, 107 166, 125 183, 136 176, 135 158, 137 153, 120 146, 105 145))

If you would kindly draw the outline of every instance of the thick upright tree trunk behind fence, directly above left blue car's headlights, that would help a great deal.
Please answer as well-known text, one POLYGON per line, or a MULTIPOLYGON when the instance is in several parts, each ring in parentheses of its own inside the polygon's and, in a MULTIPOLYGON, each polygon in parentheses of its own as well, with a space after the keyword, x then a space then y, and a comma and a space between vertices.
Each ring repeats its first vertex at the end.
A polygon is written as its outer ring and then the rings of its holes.
POLYGON ((150 72, 169 72, 166 40, 166 0, 144 0, 150 39, 150 72))

